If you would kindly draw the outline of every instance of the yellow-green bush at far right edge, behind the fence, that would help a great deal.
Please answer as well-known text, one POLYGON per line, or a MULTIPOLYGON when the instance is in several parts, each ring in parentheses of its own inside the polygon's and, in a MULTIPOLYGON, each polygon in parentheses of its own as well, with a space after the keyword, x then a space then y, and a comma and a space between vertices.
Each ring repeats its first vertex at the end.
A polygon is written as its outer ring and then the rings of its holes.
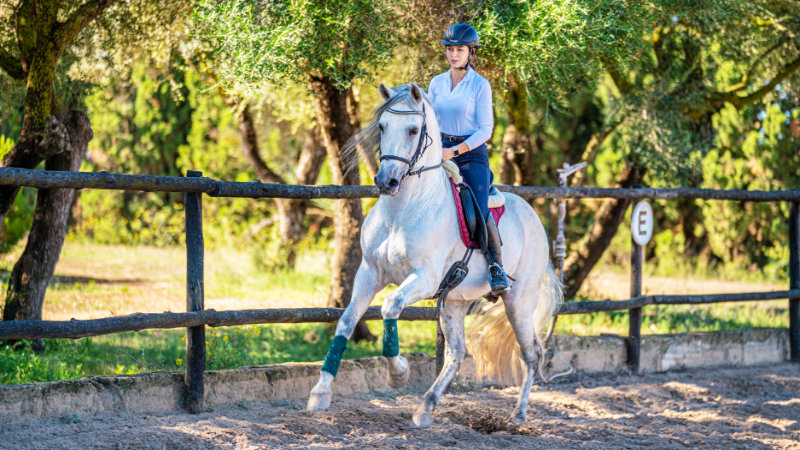
MULTIPOLYGON (((779 102, 757 105, 742 113, 730 106, 722 109, 714 118, 717 146, 703 160, 704 187, 800 188, 800 132, 791 129, 791 120, 798 117, 800 107, 784 110, 779 102)), ((729 270, 741 268, 743 264, 737 262, 742 261, 751 271, 761 269, 771 279, 786 279, 789 206, 704 202, 702 226, 710 248, 721 261, 734 266, 729 270)))

